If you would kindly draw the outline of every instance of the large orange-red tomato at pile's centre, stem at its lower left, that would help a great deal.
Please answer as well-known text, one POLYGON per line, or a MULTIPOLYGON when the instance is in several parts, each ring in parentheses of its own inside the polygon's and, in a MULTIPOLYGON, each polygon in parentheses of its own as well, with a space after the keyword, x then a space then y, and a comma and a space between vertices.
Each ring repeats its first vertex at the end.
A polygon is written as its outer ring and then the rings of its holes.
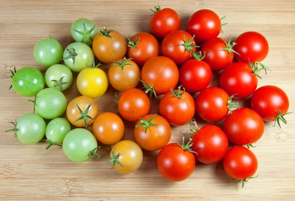
POLYGON ((141 79, 149 97, 166 94, 177 85, 179 72, 177 65, 165 56, 149 59, 142 68, 141 79))

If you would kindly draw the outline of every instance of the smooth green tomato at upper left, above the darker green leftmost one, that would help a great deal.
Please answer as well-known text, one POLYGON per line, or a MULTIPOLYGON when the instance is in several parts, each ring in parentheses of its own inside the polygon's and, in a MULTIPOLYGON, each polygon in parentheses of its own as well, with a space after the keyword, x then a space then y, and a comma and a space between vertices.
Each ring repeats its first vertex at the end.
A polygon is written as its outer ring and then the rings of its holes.
POLYGON ((42 66, 58 64, 62 59, 62 47, 55 39, 45 38, 36 43, 34 47, 34 58, 42 66))

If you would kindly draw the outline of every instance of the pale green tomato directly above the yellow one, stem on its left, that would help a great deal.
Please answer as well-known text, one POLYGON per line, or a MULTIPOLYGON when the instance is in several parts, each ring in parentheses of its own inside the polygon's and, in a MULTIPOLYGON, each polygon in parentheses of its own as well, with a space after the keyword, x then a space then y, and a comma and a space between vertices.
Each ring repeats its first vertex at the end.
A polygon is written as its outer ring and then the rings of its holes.
POLYGON ((72 43, 63 52, 65 65, 74 72, 80 72, 92 66, 93 59, 93 51, 85 43, 72 43))

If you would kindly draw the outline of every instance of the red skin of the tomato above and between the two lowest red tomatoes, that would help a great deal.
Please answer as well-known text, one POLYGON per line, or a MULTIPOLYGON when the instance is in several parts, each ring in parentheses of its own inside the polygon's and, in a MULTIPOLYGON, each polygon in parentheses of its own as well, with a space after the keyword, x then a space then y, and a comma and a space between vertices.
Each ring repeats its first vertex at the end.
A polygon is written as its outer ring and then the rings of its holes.
POLYGON ((191 149, 198 154, 195 158, 201 163, 212 164, 220 161, 226 154, 229 142, 224 131, 214 125, 200 128, 192 138, 191 149))

